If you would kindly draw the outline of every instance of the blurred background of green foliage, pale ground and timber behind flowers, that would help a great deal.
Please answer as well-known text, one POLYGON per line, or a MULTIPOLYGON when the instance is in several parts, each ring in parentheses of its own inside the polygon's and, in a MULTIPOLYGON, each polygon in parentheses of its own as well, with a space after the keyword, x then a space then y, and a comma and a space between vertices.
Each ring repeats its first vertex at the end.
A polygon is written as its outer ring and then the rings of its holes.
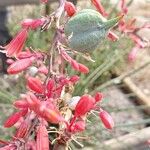
MULTIPOLYGON (((110 18, 120 12, 120 0, 102 1, 110 18)), ((74 0, 78 10, 93 8, 90 0, 74 0)), ((135 25, 150 23, 149 0, 126 0, 128 14, 126 22, 136 18, 135 25)), ((47 5, 39 5, 38 0, 0 0, 0 45, 6 45, 19 31, 20 22, 26 18, 39 18, 53 12, 58 6, 56 0, 47 5)), ((93 52, 95 63, 85 62, 90 68, 88 75, 81 75, 81 82, 76 86, 74 95, 85 92, 104 93, 101 106, 111 113, 115 128, 104 129, 97 115, 89 117, 89 122, 81 140, 85 150, 149 150, 150 149, 150 29, 142 29, 137 34, 146 40, 148 46, 138 50, 136 59, 129 61, 128 54, 135 43, 127 34, 114 32, 118 41, 105 39, 93 52), (148 142, 149 140, 149 142, 148 142), (148 144, 149 143, 149 144, 148 144)), ((46 50, 50 45, 53 28, 50 32, 31 32, 26 46, 46 50)), ((22 75, 7 75, 6 56, 0 53, 0 139, 8 140, 15 129, 3 128, 4 120, 15 110, 12 103, 20 93, 26 91, 22 75)), ((68 66, 68 74, 78 74, 68 66)), ((80 149, 72 144, 73 149, 80 149)))

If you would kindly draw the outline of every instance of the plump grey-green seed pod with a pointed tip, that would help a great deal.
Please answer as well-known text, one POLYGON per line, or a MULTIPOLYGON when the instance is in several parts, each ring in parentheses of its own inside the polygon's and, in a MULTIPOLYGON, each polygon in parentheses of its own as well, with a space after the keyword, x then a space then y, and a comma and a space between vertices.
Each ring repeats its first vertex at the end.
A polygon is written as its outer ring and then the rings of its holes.
POLYGON ((69 47, 80 52, 95 50, 107 35, 107 31, 119 20, 120 17, 107 21, 99 12, 83 9, 65 25, 69 47))

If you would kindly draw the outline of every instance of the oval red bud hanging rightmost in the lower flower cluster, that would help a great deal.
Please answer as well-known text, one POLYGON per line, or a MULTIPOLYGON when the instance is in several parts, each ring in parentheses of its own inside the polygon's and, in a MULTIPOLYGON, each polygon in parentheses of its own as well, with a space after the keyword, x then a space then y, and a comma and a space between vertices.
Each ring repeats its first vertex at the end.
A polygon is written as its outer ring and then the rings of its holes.
POLYGON ((104 124, 105 128, 112 129, 114 127, 114 121, 113 121, 112 117, 110 116, 110 114, 108 114, 108 112, 102 110, 99 113, 99 117, 100 117, 102 123, 104 124))

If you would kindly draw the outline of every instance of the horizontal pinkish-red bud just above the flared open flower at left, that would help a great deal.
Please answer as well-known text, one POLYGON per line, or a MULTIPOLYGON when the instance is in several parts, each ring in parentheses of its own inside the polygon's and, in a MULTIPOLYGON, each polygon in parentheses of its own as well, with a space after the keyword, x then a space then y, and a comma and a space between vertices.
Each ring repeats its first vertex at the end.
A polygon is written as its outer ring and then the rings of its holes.
POLYGON ((32 30, 35 30, 39 27, 41 27, 45 22, 44 18, 41 19, 25 19, 22 21, 21 25, 23 28, 29 28, 32 30))

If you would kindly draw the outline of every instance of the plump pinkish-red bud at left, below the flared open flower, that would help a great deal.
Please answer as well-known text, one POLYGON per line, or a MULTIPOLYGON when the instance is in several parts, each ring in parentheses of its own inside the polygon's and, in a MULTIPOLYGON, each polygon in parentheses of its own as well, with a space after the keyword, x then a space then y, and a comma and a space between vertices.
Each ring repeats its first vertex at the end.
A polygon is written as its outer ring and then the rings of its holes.
POLYGON ((7 72, 9 74, 20 73, 21 71, 23 71, 23 70, 27 69, 29 66, 31 66, 32 61, 33 60, 30 58, 17 60, 8 67, 7 72))

